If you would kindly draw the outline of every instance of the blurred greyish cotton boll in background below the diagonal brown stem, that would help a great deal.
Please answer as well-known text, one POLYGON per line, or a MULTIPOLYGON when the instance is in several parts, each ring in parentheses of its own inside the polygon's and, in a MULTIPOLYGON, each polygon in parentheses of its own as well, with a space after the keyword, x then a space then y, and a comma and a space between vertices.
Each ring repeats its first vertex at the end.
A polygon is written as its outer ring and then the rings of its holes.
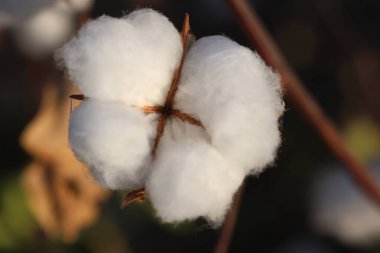
MULTIPOLYGON (((379 180, 378 164, 372 172, 379 180)), ((328 168, 315 182, 311 211, 311 223, 322 234, 361 247, 378 245, 380 241, 378 207, 340 167, 328 168)))

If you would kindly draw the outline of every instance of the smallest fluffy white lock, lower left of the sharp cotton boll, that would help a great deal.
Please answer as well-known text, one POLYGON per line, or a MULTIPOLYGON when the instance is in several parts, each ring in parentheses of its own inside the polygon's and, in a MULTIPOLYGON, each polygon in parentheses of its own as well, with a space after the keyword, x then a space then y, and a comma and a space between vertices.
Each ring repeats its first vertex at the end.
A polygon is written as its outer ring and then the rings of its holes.
POLYGON ((155 117, 138 108, 85 100, 71 115, 71 148, 99 183, 111 189, 141 187, 151 160, 155 117))

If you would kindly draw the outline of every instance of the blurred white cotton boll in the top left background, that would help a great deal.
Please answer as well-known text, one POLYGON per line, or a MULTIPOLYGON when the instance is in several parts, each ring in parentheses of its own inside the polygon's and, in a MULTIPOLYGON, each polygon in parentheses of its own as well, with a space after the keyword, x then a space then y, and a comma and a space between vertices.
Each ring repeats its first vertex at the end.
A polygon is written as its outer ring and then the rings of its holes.
POLYGON ((10 28, 18 46, 32 57, 61 47, 74 32, 78 13, 92 0, 2 0, 0 28, 10 28))

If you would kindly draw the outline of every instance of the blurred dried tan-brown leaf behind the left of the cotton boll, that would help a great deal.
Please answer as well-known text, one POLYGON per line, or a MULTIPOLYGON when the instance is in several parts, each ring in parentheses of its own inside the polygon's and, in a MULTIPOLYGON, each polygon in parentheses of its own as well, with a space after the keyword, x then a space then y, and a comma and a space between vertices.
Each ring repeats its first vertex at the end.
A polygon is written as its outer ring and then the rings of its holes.
POLYGON ((69 98, 60 102, 57 87, 48 85, 38 114, 21 136, 34 158, 23 173, 30 208, 48 236, 66 242, 97 220, 107 195, 69 148, 70 104, 69 98))

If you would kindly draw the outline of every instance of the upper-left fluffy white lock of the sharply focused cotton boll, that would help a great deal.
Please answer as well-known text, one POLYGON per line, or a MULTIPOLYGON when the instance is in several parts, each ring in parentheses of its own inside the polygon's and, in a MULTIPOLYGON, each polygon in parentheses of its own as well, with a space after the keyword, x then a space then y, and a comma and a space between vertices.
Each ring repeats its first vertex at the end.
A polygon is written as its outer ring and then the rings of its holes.
POLYGON ((87 23, 58 58, 85 96, 143 106, 164 102, 181 53, 173 24, 141 9, 87 23))

